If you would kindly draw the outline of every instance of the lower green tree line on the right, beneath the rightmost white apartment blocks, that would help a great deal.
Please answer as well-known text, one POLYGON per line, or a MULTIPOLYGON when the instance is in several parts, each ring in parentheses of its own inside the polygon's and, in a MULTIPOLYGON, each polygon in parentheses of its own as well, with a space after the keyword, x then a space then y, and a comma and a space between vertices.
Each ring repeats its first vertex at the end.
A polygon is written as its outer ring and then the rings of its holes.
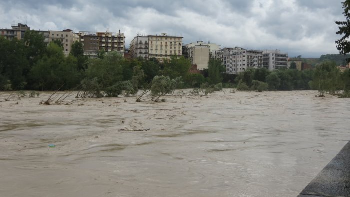
POLYGON ((269 71, 266 68, 248 69, 236 77, 237 90, 310 90, 316 89, 320 96, 324 93, 350 96, 350 71, 341 72, 334 61, 324 61, 314 69, 299 71, 281 69, 269 71))

